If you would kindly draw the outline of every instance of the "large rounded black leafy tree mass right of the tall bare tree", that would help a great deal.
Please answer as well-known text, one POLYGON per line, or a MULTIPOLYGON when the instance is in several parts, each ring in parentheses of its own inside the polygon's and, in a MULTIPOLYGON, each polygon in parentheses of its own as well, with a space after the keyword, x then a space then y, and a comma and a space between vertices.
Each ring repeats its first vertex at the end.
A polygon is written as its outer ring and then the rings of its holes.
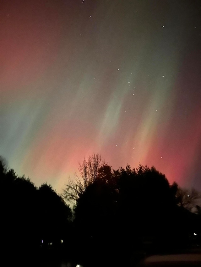
POLYGON ((88 245, 80 253, 124 261, 135 249, 184 245, 195 214, 177 206, 176 191, 177 184, 170 185, 154 167, 99 168, 75 208, 76 233, 88 245))

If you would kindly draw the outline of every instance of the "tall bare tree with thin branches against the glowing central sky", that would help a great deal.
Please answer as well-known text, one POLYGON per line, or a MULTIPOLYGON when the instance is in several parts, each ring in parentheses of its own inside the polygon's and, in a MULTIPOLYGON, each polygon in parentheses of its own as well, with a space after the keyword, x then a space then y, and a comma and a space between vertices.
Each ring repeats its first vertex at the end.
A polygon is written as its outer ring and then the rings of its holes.
POLYGON ((69 178, 62 197, 70 203, 77 202, 86 188, 97 179, 98 170, 104 165, 105 161, 100 154, 94 153, 88 159, 84 158, 82 163, 79 162, 79 174, 75 174, 75 178, 69 178))

